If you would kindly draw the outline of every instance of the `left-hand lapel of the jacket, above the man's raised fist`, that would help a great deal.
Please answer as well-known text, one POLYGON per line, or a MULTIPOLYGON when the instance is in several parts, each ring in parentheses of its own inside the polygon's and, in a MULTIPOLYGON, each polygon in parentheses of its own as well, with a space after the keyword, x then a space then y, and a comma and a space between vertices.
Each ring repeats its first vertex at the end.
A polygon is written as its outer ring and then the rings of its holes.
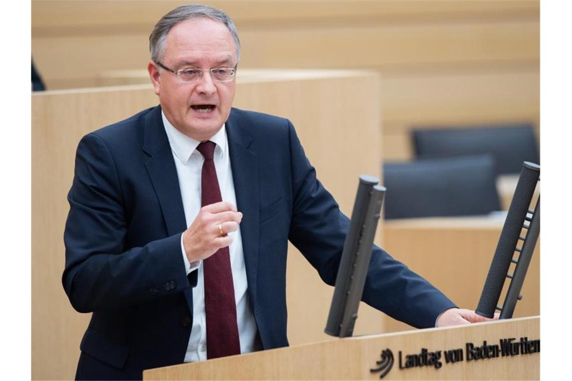
MULTIPOLYGON (((143 151, 149 155, 145 168, 157 194, 167 233, 169 236, 178 234, 186 229, 185 210, 182 206, 177 168, 159 106, 145 118, 143 151)), ((192 294, 192 288, 184 290, 185 300, 191 313, 193 312, 192 294)))

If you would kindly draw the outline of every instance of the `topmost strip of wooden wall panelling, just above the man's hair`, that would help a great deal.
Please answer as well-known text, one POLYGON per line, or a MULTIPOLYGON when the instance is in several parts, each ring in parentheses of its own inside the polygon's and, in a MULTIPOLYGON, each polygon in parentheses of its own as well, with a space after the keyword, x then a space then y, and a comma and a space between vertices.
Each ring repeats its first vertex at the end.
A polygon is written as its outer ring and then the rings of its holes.
MULTIPOLYGON (((184 1, 32 1, 34 34, 147 31, 184 1), (134 11, 136 9, 137 11, 134 11)), ((539 1, 197 1, 224 10, 241 29, 260 25, 355 25, 475 19, 538 19, 539 1)))

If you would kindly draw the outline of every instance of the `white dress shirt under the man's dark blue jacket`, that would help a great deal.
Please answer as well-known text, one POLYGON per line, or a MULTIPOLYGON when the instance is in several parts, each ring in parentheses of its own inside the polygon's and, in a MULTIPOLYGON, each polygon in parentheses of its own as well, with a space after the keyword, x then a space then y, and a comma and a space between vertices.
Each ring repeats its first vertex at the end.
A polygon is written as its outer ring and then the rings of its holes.
MULTIPOLYGON (((177 177, 181 190, 182 205, 185 210, 186 226, 190 226, 201 208, 201 171, 204 158, 196 150, 199 141, 182 134, 162 113, 163 125, 173 152, 177 177)), ((231 159, 228 153, 228 140, 225 125, 210 138, 216 144, 215 167, 219 179, 220 193, 224 201, 236 206, 235 185, 232 181, 231 159)), ((247 292, 247 273, 244 265, 243 242, 239 229, 229 233, 232 237, 229 251, 231 255, 232 281, 235 287, 237 324, 239 327, 240 352, 248 353, 260 349, 257 342, 257 328, 247 292)), ((187 274, 198 271, 197 286, 193 287, 193 326, 185 362, 206 360, 206 315, 204 275, 200 261, 189 264, 181 237, 181 251, 187 274)))

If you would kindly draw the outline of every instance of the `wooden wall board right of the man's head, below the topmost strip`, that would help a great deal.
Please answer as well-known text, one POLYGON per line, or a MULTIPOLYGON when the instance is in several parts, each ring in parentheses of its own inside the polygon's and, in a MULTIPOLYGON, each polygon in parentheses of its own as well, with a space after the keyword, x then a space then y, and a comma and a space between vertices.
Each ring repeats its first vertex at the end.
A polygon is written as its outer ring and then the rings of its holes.
POLYGON ((241 38, 244 67, 423 70, 539 59, 536 21, 268 29, 241 38))

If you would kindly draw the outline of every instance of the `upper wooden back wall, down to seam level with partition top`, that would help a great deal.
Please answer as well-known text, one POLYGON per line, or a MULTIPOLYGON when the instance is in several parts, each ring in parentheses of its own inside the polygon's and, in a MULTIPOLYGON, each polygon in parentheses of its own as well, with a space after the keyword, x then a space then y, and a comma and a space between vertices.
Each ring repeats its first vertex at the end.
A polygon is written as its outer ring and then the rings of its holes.
MULTIPOLYGON (((32 53, 51 89, 148 61, 154 23, 180 2, 34 1, 32 53)), ((236 19, 241 67, 511 67, 539 63, 538 2, 213 2, 236 19)))

